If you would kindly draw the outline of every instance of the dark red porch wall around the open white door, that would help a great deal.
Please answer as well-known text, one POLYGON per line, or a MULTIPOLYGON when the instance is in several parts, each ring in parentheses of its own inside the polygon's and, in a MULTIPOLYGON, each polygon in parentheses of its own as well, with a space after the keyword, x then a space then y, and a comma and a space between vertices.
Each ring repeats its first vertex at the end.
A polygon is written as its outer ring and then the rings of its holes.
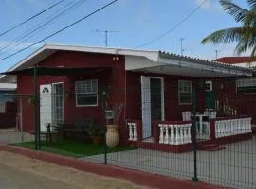
MULTIPOLYGON (((137 72, 126 73, 126 91, 129 98, 126 99, 126 118, 141 119, 141 92, 140 76, 163 77, 164 78, 164 104, 165 120, 182 120, 182 112, 192 111, 192 105, 179 105, 178 103, 178 80, 192 80, 192 77, 168 76, 159 74, 147 74, 137 72)), ((198 92, 198 110, 203 111, 203 93, 198 92)))

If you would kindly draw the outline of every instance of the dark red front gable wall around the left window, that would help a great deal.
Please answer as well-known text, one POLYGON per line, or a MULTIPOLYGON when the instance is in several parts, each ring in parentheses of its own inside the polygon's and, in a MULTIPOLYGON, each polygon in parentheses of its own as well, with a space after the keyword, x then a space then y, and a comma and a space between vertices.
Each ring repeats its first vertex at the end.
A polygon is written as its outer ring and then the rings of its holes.
MULTIPOLYGON (((90 73, 84 76, 40 76, 39 84, 49 84, 54 82, 64 82, 64 91, 71 92, 71 96, 64 99, 64 121, 73 123, 76 118, 95 118, 101 124, 102 111, 101 104, 96 107, 76 107, 75 81, 83 79, 98 79, 98 86, 111 85, 113 89, 121 89, 125 83, 124 77, 124 57, 119 56, 119 60, 113 60, 112 55, 102 55, 95 53, 80 52, 57 52, 46 60, 39 63, 40 66, 64 66, 64 67, 110 67, 107 70, 90 73)), ((33 94, 33 77, 18 76, 17 94, 33 94)), ((124 91, 116 93, 114 91, 112 100, 115 102, 124 101, 124 91)), ((27 98, 23 98, 23 125, 26 130, 34 130, 34 107, 28 105, 27 98)), ((123 114, 121 115, 123 117, 123 114)), ((124 123, 119 123, 123 126, 124 123)), ((121 128, 121 127, 120 127, 121 128)), ((122 129, 120 129, 121 132, 122 129)))

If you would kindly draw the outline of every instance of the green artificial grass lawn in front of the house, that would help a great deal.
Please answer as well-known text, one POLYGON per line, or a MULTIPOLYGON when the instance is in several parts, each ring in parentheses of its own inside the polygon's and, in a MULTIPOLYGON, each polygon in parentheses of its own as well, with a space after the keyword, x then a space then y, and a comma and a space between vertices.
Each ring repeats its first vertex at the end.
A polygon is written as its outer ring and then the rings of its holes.
MULTIPOLYGON (((29 149, 35 148, 34 142, 24 142, 24 143, 16 143, 12 144, 13 146, 21 146, 26 147, 29 149)), ((72 157, 84 157, 84 156, 91 156, 104 153, 103 145, 93 145, 90 143, 82 143, 78 141, 71 141, 71 140, 58 140, 53 142, 52 144, 46 146, 46 142, 41 142, 41 150, 47 151, 55 154, 61 154, 65 156, 72 156, 72 157)), ((117 152, 117 151, 125 151, 134 149, 132 147, 123 147, 117 146, 115 148, 107 148, 107 152, 117 152)))

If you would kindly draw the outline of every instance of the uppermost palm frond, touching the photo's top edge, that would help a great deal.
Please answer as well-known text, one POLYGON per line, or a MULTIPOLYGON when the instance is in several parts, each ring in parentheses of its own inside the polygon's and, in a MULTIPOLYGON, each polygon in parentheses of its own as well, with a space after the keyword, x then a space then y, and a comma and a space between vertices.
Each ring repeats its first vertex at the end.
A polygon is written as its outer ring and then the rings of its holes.
POLYGON ((241 22, 245 19, 248 10, 232 3, 231 0, 220 0, 223 9, 234 17, 236 22, 241 22))

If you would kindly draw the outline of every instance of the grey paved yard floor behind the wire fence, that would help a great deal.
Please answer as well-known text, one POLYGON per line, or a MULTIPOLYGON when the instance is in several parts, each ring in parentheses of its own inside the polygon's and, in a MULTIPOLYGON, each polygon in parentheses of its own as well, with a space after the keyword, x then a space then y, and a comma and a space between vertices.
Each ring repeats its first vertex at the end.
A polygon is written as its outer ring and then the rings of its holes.
MULTIPOLYGON (((256 136, 225 145, 221 151, 197 151, 198 178, 233 188, 256 187, 256 136)), ((82 158, 104 163, 104 155, 82 158)), ((182 154, 136 149, 107 154, 109 164, 192 180, 193 152, 182 154)))

